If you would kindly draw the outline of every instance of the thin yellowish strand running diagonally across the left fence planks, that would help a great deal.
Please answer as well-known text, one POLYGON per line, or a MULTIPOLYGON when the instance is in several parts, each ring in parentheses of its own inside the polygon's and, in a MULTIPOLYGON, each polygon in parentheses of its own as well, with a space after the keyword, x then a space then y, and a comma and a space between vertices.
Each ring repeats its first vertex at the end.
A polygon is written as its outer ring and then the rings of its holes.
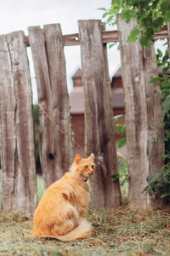
MULTIPOLYGON (((20 83, 23 84, 24 86, 26 86, 26 84, 25 84, 25 83, 23 82, 23 80, 20 78, 20 74, 18 75, 18 77, 19 77, 19 79, 20 79, 20 83)), ((31 90, 29 90, 28 93, 29 93, 29 95, 31 96, 31 98, 33 98, 33 95, 32 95, 31 90)), ((43 113, 47 116, 47 118, 55 125, 55 127, 56 127, 63 135, 65 135, 65 137, 68 136, 68 135, 65 133, 65 131, 63 131, 63 130, 59 127, 59 125, 57 125, 57 124, 55 123, 54 119, 52 119, 52 118, 49 116, 49 114, 47 113, 47 111, 46 111, 44 108, 42 108, 42 105, 41 105, 39 102, 37 102, 37 106, 42 109, 42 112, 43 112, 43 113)), ((84 150, 84 148, 82 148, 82 146, 81 146, 79 143, 77 143, 76 141, 75 141, 74 143, 77 145, 78 148, 81 148, 82 150, 84 150)))

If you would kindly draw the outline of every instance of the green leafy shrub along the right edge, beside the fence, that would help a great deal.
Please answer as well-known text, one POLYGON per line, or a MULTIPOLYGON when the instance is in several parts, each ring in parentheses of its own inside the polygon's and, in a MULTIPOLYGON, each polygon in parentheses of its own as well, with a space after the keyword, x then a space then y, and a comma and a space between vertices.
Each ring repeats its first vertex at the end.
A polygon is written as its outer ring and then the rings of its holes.
MULTIPOLYGON (((167 44, 167 43, 166 43, 167 44)), ((162 142, 165 143, 164 163, 160 172, 147 177, 148 186, 144 189, 148 190, 151 196, 158 198, 170 196, 170 61, 168 57, 168 49, 163 55, 161 49, 157 49, 156 59, 158 67, 162 67, 162 76, 151 79, 150 83, 160 82, 162 94, 162 117, 165 131, 165 138, 162 142)), ((153 85, 154 86, 154 85, 153 85)), ((168 202, 169 203, 169 202, 168 202)))

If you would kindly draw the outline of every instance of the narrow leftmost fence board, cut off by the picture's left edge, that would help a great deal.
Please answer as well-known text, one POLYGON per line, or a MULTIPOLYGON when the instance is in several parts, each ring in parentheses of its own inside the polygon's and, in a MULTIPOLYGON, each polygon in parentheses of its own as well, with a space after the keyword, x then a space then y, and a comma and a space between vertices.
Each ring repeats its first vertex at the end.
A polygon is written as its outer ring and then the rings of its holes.
POLYGON ((1 167, 2 167, 2 203, 4 212, 12 208, 12 196, 14 194, 14 153, 16 148, 15 134, 15 97, 14 79, 11 73, 12 63, 6 35, 0 36, 0 114, 1 114, 1 167))

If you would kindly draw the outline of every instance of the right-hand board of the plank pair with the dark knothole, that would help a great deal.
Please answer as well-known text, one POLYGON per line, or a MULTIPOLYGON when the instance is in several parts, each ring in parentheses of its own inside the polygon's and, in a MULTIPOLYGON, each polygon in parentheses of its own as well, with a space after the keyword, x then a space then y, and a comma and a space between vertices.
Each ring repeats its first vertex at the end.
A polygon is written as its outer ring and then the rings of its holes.
POLYGON ((48 55, 48 72, 51 83, 51 117, 59 125, 53 125, 51 142, 54 143, 55 179, 68 171, 73 160, 71 143, 71 114, 66 83, 65 54, 60 24, 44 26, 44 35, 48 55))

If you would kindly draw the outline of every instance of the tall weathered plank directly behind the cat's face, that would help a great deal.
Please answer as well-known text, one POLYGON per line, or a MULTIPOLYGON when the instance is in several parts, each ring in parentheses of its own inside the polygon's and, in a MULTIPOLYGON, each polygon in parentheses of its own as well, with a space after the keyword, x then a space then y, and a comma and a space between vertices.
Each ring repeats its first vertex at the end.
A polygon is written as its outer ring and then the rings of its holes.
POLYGON ((121 204, 117 172, 116 142, 112 122, 111 84, 107 73, 99 20, 79 20, 82 49, 82 84, 85 92, 85 148, 94 152, 96 172, 91 181, 93 207, 121 204))

